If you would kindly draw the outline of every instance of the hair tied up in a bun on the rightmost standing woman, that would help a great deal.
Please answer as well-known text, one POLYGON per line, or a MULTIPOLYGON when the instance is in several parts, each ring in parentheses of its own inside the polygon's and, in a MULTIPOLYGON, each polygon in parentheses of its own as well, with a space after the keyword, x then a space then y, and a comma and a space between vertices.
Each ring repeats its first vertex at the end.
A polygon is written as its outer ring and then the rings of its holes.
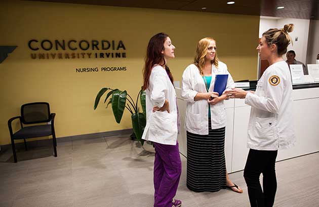
POLYGON ((287 52, 288 45, 292 43, 288 32, 292 32, 293 30, 293 24, 286 24, 283 29, 268 29, 262 36, 266 38, 268 44, 275 44, 277 46, 278 55, 284 55, 287 52))

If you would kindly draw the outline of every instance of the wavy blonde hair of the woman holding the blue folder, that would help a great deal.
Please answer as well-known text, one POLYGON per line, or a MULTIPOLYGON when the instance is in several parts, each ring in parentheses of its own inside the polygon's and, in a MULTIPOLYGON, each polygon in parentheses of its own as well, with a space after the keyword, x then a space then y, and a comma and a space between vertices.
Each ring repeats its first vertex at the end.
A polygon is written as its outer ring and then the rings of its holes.
MULTIPOLYGON (((198 70, 200 70, 200 74, 202 76, 204 76, 203 68, 205 66, 205 58, 207 55, 208 46, 211 41, 215 41, 215 39, 212 37, 205 37, 197 43, 194 65, 197 66, 198 70)), ((215 51, 215 58, 211 62, 216 66, 216 68, 218 68, 217 51, 215 51)))

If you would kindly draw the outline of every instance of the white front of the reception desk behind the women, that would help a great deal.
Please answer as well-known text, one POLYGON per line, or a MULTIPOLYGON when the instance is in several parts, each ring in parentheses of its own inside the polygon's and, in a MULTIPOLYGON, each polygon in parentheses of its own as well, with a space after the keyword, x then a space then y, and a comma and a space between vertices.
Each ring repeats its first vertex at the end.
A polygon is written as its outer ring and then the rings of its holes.
MULTIPOLYGON (((277 161, 302 156, 319 151, 319 85, 293 90, 294 125, 296 145, 291 149, 278 151, 277 161)), ((178 107, 181 118, 181 133, 178 136, 180 152, 187 157, 185 129, 186 101, 176 88, 178 107)), ((250 106, 244 99, 224 100, 227 114, 225 158, 227 171, 244 170, 249 149, 247 148, 247 128, 250 106)))

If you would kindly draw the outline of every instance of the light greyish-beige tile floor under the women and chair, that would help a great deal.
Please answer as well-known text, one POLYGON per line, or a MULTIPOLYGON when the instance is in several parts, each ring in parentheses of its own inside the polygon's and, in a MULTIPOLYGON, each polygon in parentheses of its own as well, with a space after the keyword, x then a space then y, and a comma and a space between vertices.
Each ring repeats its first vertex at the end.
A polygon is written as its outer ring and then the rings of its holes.
MULTIPOLYGON (((153 206, 153 148, 143 150, 129 135, 58 140, 58 157, 48 145, 0 153, 0 207, 153 206)), ((176 197, 183 207, 249 206, 243 172, 230 174, 244 193, 195 193, 186 187, 186 159, 176 197)), ((274 206, 319 206, 319 153, 276 164, 274 206)))

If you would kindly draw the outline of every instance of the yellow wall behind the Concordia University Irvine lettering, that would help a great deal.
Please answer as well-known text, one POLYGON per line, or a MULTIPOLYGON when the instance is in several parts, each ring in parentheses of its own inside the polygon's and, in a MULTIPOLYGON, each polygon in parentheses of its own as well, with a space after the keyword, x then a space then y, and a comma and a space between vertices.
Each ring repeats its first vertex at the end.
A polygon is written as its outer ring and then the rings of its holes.
POLYGON ((19 115, 23 103, 33 101, 50 103, 57 114, 57 137, 131 128, 128 111, 116 124, 110 108, 100 105, 93 111, 94 98, 102 86, 127 89, 136 97, 148 40, 158 32, 168 33, 176 46, 176 58, 169 62, 175 80, 181 80, 197 41, 206 36, 217 40, 219 59, 235 80, 257 76, 258 16, 2 1, 0 19, 0 45, 18 46, 0 64, 0 144, 10 143, 8 119, 19 115), (32 60, 27 46, 32 38, 123 40, 127 58, 32 60), (75 72, 104 66, 126 66, 127 71, 75 72))

